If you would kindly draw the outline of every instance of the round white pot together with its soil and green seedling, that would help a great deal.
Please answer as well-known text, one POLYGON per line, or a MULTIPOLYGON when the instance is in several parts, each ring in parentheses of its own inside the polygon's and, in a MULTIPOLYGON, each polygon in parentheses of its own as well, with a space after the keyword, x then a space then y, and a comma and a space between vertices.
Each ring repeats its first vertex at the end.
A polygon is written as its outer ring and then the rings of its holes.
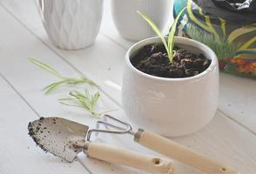
POLYGON ((127 117, 139 126, 166 137, 199 131, 215 114, 219 97, 219 66, 205 44, 169 37, 150 23, 159 37, 135 43, 125 56, 122 103, 127 117))

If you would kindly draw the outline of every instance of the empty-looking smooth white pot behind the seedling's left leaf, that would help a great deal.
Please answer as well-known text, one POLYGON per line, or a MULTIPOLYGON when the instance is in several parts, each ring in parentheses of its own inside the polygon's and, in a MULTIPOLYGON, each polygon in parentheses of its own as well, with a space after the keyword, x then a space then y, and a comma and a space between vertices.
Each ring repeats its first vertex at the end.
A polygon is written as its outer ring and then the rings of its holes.
POLYGON ((137 10, 145 13, 160 30, 172 19, 172 0, 111 0, 111 13, 119 34, 125 39, 139 41, 156 34, 137 10))

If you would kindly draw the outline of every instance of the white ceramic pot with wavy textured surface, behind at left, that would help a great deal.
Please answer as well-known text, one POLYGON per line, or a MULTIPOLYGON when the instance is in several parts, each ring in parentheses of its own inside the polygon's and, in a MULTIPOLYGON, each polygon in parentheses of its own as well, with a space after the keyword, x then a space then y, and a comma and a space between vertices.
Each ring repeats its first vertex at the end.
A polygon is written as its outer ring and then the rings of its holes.
POLYGON ((51 42, 64 50, 83 49, 98 35, 103 0, 38 0, 51 42))

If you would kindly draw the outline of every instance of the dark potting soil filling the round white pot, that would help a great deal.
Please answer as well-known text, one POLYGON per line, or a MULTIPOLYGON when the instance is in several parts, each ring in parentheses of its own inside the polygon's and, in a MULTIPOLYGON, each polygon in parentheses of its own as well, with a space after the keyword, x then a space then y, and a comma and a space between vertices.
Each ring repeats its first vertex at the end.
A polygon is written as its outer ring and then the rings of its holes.
POLYGON ((212 62, 203 54, 192 54, 179 47, 174 50, 176 55, 171 63, 163 44, 149 44, 131 56, 131 64, 152 76, 179 78, 196 76, 212 62))

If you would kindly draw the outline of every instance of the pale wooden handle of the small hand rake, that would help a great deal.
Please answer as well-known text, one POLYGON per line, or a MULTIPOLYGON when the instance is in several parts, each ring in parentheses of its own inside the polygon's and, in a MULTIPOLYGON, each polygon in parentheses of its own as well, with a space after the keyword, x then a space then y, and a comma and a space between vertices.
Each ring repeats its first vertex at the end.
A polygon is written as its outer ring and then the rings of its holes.
POLYGON ((209 174, 239 174, 237 171, 228 169, 224 164, 150 131, 138 130, 135 141, 153 151, 197 168, 199 171, 209 174))

